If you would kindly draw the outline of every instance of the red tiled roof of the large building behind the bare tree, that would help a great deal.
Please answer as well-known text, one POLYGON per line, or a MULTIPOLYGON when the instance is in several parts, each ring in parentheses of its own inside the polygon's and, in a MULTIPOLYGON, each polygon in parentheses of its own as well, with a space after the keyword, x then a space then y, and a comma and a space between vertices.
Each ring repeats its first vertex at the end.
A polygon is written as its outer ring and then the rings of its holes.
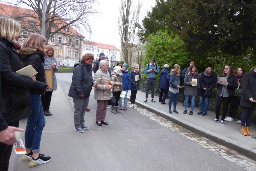
MULTIPOLYGON (((2 4, 0 3, 0 15, 3 16, 12 16, 12 17, 19 17, 19 16, 33 16, 38 18, 38 15, 35 13, 34 10, 31 9, 27 9, 27 8, 21 8, 21 7, 17 7, 17 6, 12 6, 12 5, 7 5, 7 4, 2 4)), ((24 22, 22 22, 22 26, 29 26, 29 21, 31 22, 35 22, 35 24, 37 24, 38 21, 36 21, 36 19, 32 18, 32 17, 26 17, 23 18, 24 22)), ((62 27, 63 25, 66 25, 67 23, 64 20, 58 20, 55 21, 55 24, 58 24, 58 27, 62 27)), ((38 24, 37 24, 38 25, 38 24)), ((36 29, 40 30, 40 26, 35 26, 36 29)), ((81 36, 84 37, 83 35, 79 34, 74 28, 72 28, 71 26, 67 26, 67 28, 69 28, 69 31, 66 32, 64 31, 64 29, 61 29, 60 32, 61 33, 66 33, 66 34, 70 34, 70 35, 76 35, 76 36, 81 36)), ((53 28, 51 29, 53 32, 55 31, 53 28)))

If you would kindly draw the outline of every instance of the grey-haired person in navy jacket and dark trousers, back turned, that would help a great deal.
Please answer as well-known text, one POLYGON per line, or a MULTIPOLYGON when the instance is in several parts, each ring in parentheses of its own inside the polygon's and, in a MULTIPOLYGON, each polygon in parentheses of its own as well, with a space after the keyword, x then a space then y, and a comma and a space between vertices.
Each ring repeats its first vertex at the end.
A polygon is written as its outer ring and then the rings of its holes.
POLYGON ((165 99, 168 95, 169 79, 170 79, 169 65, 165 64, 164 69, 161 70, 160 79, 159 79, 159 89, 161 90, 161 92, 159 93, 159 102, 162 102, 162 104, 165 104, 165 99))

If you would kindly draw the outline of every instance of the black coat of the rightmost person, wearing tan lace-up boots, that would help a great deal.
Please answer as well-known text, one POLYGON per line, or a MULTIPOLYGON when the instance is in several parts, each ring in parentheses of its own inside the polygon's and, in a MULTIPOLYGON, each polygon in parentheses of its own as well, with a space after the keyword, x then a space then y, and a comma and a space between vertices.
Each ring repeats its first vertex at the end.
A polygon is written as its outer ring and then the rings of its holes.
POLYGON ((251 72, 246 73, 243 76, 242 81, 242 97, 240 101, 241 106, 245 107, 256 107, 256 103, 249 101, 249 98, 253 98, 256 100, 256 72, 253 70, 251 72))

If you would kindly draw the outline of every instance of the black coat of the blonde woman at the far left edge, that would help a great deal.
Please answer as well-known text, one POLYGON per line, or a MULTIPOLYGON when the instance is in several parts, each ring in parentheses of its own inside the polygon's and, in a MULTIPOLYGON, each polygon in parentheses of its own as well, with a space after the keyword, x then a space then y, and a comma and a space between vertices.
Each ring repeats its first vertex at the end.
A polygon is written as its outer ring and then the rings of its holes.
POLYGON ((19 121, 31 113, 29 90, 33 79, 15 73, 22 68, 20 54, 12 42, 0 38, 1 93, 5 105, 0 98, 0 131, 10 123, 19 121), (1 114, 0 114, 1 115, 1 114))

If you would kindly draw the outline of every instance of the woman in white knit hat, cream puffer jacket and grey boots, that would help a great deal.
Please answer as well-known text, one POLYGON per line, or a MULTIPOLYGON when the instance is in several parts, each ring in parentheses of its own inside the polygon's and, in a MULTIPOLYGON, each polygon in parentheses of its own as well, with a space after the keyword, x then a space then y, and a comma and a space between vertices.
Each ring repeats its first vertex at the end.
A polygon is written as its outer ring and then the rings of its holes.
POLYGON ((123 91, 123 81, 122 81, 122 73, 121 67, 115 66, 114 72, 111 76, 111 81, 113 82, 113 96, 116 96, 116 103, 111 104, 111 112, 112 113, 121 113, 118 110, 118 102, 120 98, 120 94, 123 91))

